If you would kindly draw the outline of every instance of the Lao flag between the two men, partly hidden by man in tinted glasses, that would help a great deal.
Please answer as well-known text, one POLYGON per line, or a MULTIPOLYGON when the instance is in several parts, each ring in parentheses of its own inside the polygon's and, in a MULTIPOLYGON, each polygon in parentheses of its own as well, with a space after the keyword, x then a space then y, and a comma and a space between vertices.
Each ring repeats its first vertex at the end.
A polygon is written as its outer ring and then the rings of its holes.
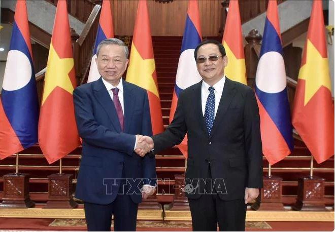
MULTIPOLYGON (((194 60, 194 49, 202 41, 200 17, 197 1, 189 1, 185 31, 183 34, 182 48, 178 62, 176 75, 176 85, 173 92, 170 110, 170 123, 175 115, 179 94, 182 90, 194 85, 202 80, 196 68, 194 60)), ((181 144, 178 145, 180 151, 187 157, 187 135, 181 144)))

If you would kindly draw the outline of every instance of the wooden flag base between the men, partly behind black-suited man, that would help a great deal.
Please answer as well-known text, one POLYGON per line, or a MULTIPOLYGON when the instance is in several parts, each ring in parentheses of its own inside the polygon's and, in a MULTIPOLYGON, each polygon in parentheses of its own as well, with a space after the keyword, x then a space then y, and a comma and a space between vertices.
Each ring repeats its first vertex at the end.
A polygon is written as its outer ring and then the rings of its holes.
POLYGON ((185 175, 175 175, 175 185, 179 187, 175 188, 174 200, 167 209, 171 211, 189 211, 188 200, 182 190, 182 188, 185 188, 185 175))

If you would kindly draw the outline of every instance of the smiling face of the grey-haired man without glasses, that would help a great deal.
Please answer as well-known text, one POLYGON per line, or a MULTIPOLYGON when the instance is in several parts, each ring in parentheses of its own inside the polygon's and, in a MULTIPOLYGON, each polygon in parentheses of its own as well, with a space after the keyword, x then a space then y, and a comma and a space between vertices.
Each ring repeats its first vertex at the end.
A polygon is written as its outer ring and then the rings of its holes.
POLYGON ((127 68, 128 59, 124 48, 119 45, 104 45, 95 59, 99 73, 103 79, 117 86, 127 68))

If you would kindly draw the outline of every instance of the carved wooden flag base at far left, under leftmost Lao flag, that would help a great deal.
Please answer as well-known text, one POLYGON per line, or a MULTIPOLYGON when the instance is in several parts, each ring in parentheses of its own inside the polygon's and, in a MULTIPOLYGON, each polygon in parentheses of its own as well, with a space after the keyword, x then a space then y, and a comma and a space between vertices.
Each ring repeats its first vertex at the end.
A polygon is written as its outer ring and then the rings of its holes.
POLYGON ((35 203, 29 197, 29 174, 4 175, 4 197, 1 208, 30 208, 35 203))

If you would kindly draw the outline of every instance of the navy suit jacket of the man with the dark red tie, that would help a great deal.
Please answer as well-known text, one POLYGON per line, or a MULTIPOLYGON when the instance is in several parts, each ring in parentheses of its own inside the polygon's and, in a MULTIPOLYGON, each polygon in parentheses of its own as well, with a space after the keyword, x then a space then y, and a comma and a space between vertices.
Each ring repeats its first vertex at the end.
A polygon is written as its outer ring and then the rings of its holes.
POLYGON ((137 179, 128 183, 135 203, 142 200, 137 184, 155 186, 155 159, 141 158, 133 152, 136 134, 152 135, 147 92, 125 81, 123 91, 124 133, 102 78, 79 86, 73 93, 77 127, 83 139, 76 198, 84 202, 113 202, 120 187, 120 180, 114 179, 144 178, 144 182, 137 179))

